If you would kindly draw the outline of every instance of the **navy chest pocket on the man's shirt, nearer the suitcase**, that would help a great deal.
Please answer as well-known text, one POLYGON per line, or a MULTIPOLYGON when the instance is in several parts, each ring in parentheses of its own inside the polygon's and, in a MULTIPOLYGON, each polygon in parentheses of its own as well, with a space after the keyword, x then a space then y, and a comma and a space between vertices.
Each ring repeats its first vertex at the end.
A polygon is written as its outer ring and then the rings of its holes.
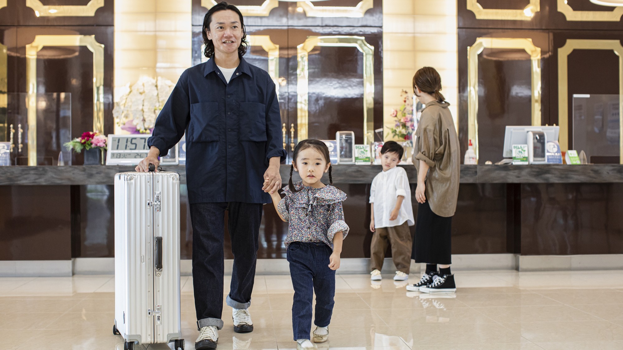
POLYGON ((191 105, 191 120, 186 137, 191 142, 219 140, 219 104, 217 102, 200 102, 191 105))

